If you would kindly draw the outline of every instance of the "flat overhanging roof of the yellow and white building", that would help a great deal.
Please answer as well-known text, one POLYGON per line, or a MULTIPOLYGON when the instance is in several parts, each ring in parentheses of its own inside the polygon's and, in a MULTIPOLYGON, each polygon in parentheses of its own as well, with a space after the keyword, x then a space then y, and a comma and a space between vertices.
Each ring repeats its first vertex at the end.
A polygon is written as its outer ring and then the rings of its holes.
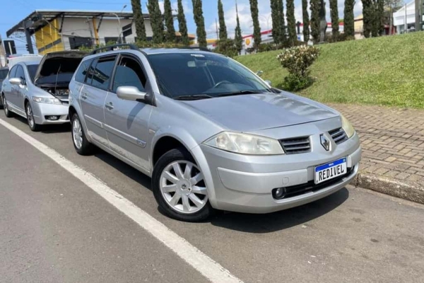
MULTIPOLYGON (((10 30, 6 32, 6 35, 9 37, 13 33, 16 32, 23 32, 23 23, 28 20, 32 20, 34 18, 39 18, 37 21, 35 21, 30 28, 30 33, 35 33, 36 30, 42 28, 45 25, 48 25, 48 23, 55 18, 64 17, 64 18, 98 18, 98 17, 116 17, 119 16, 119 18, 133 18, 132 12, 121 12, 121 11, 84 11, 84 10, 35 10, 33 13, 30 13, 27 17, 23 18, 22 21, 20 21, 18 24, 13 26, 10 30)), ((148 19, 148 14, 143 14, 143 17, 148 19)))

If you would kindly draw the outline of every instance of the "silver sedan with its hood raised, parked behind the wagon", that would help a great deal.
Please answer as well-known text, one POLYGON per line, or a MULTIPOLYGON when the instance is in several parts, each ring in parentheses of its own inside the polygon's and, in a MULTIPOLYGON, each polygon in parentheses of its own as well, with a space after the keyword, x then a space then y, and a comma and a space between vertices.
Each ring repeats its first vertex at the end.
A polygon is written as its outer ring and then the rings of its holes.
POLYGON ((18 62, 4 80, 4 112, 25 117, 33 131, 41 125, 69 122, 69 81, 85 52, 46 54, 35 62, 18 62))

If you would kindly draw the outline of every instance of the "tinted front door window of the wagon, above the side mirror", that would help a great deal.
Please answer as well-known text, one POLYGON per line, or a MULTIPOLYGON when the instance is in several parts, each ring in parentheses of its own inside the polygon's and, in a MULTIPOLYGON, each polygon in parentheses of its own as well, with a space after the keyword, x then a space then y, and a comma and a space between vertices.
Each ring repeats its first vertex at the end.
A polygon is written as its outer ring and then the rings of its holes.
POLYGON ((113 81, 113 91, 115 93, 119 86, 136 86, 139 91, 144 91, 146 76, 144 76, 139 62, 129 57, 122 57, 113 81))

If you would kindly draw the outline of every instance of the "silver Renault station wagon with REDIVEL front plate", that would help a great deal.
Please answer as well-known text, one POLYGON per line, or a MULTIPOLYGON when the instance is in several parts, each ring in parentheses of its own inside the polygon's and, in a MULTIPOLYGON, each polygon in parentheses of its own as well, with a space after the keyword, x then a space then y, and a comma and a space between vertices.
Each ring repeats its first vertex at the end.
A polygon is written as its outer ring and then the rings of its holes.
POLYGON ((358 173, 358 134, 343 115, 220 54, 107 47, 84 57, 69 89, 78 154, 95 145, 150 176, 175 219, 288 209, 358 173))

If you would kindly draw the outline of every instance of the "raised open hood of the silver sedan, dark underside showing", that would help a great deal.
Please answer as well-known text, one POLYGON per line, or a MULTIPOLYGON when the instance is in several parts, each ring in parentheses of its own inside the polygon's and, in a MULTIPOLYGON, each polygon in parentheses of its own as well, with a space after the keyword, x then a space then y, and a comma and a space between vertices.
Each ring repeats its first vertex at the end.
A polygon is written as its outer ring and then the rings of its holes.
POLYGON ((57 74, 73 74, 83 57, 86 55, 87 53, 82 51, 59 51, 45 54, 35 72, 35 84, 37 84, 40 79, 49 76, 52 76, 52 80, 54 80, 57 74))

